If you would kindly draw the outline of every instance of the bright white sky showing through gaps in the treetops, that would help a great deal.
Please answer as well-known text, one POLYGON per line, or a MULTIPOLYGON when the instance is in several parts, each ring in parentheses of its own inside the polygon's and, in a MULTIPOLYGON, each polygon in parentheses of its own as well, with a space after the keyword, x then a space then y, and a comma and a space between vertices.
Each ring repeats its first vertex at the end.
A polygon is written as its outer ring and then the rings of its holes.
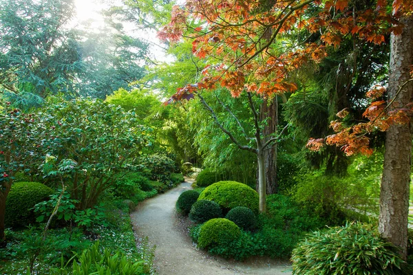
MULTIPOLYGON (((77 21, 92 21, 90 25, 91 28, 100 28, 104 26, 103 17, 100 15, 100 11, 104 8, 109 8, 108 3, 116 3, 114 0, 75 0, 76 10, 77 10, 77 21)), ((125 25, 125 29, 128 26, 125 25)), ((148 32, 145 30, 133 30, 133 27, 130 26, 130 32, 133 32, 138 37, 149 41, 151 43, 151 55, 156 61, 166 61, 170 63, 173 61, 172 56, 167 56, 165 50, 161 47, 156 46, 160 45, 160 41, 156 38, 155 32, 148 32)))

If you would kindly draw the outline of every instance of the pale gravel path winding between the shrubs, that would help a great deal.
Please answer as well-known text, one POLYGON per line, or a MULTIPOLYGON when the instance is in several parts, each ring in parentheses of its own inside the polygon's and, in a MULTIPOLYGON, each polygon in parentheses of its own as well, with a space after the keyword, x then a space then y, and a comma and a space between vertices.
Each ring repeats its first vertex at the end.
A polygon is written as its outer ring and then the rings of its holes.
POLYGON ((165 194, 143 201, 131 213, 138 236, 148 236, 149 243, 156 245, 154 263, 157 274, 291 274, 287 262, 259 258, 240 263, 197 250, 186 232, 188 221, 175 211, 180 193, 190 190, 192 182, 187 179, 165 194))

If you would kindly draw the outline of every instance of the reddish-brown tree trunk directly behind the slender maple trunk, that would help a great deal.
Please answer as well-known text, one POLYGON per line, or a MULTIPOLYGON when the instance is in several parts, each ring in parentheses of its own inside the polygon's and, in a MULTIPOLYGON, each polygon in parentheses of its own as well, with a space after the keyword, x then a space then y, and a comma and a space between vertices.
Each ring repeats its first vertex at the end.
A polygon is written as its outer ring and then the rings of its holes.
MULTIPOLYGON (((266 120, 266 124, 263 129, 263 143, 265 143, 273 134, 277 133, 277 106, 276 97, 273 99, 264 99, 262 108, 260 109, 260 120, 266 120)), ((278 192, 278 182, 277 182, 277 144, 274 146, 268 146, 263 152, 264 154, 264 169, 265 169, 265 180, 266 180, 266 194, 276 194, 278 192)), ((257 164, 258 166, 259 164, 257 164)), ((259 173, 257 169, 257 192, 259 192, 259 173)))

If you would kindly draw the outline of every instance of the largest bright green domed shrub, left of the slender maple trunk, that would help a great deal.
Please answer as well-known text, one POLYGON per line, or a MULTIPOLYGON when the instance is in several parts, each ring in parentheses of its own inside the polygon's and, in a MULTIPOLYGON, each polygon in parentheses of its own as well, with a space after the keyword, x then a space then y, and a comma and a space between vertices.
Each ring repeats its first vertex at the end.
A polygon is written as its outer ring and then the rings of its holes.
POLYGON ((225 210, 244 206, 258 213, 258 193, 237 181, 218 181, 201 192, 198 200, 201 199, 215 201, 225 210))

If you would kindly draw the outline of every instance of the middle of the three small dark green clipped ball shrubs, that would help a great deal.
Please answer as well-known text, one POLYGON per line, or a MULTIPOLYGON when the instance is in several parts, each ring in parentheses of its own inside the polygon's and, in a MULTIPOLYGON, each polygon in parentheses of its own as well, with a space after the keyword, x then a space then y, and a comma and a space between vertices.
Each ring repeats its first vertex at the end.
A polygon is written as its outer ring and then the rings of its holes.
POLYGON ((189 219, 196 223, 204 223, 210 219, 222 217, 222 210, 215 201, 206 201, 204 199, 193 203, 189 219))

